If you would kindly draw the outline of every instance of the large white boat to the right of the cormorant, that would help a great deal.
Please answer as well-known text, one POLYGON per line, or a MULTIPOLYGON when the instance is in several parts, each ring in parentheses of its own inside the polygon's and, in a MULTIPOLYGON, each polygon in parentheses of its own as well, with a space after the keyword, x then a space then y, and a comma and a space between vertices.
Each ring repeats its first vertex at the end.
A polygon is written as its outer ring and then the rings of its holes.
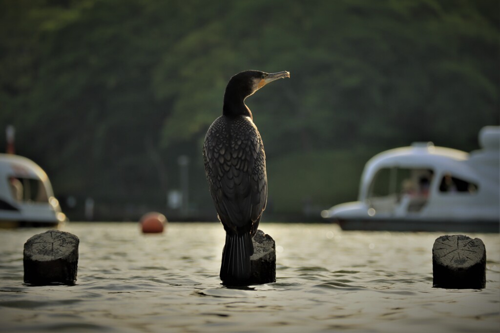
POLYGON ((413 143, 365 165, 358 201, 322 211, 343 230, 499 232, 500 127, 479 132, 481 149, 413 143))

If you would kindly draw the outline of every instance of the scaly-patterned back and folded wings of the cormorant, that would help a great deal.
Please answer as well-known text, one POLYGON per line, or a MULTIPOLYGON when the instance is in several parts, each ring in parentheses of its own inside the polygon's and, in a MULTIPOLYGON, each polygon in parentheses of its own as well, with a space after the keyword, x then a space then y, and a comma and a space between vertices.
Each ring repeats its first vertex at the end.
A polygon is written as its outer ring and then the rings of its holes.
POLYGON ((214 122, 203 156, 220 221, 234 232, 248 231, 258 224, 267 200, 265 155, 258 130, 245 118, 230 126, 214 122))

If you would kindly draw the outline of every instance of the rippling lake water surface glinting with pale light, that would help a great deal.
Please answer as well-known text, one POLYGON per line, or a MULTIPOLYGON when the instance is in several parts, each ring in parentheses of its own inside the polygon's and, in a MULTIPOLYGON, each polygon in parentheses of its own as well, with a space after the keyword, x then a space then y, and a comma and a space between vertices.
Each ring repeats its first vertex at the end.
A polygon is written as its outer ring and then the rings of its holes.
POLYGON ((432 288, 439 233, 342 232, 269 224, 276 283, 226 288, 217 223, 70 223, 75 286, 23 285, 22 247, 40 229, 0 232, 0 332, 498 332, 500 240, 486 246, 486 289, 432 288))

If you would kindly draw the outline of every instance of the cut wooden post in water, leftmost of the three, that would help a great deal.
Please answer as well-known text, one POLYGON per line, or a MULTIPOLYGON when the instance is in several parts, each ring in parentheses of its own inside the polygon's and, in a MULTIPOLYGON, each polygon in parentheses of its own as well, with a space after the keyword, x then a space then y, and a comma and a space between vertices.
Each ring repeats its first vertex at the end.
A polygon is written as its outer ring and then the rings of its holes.
POLYGON ((78 267, 78 237, 49 230, 24 243, 24 283, 72 285, 78 267))

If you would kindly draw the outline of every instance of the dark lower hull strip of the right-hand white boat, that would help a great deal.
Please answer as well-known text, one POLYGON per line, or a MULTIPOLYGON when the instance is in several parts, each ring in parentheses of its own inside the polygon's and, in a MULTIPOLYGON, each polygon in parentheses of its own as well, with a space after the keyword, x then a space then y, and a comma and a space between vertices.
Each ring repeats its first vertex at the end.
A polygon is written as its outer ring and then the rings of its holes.
POLYGON ((342 230, 498 233, 498 221, 352 219, 335 221, 342 230))

